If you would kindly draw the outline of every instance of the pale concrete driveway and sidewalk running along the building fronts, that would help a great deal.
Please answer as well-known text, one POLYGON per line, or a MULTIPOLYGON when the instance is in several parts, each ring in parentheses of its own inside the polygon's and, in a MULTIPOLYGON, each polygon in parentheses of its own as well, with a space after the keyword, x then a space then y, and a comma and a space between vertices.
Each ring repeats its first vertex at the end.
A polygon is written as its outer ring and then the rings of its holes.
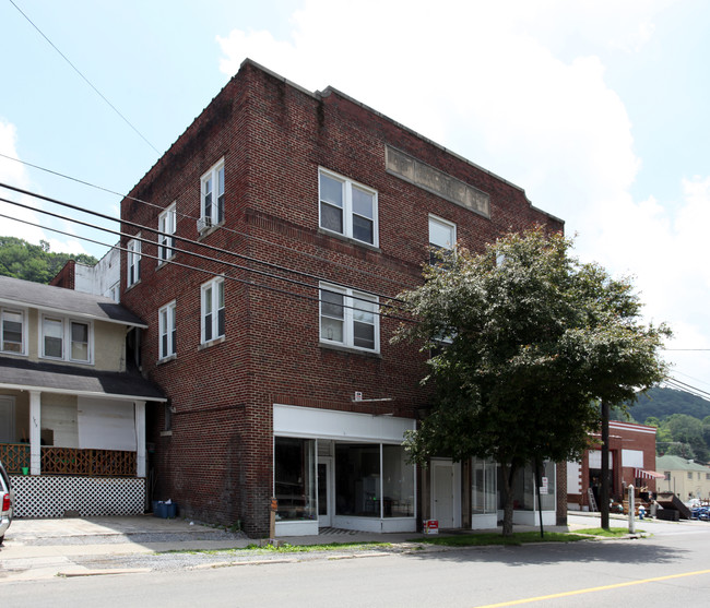
MULTIPOLYGON (((570 513, 567 526, 551 526, 545 530, 575 532, 575 529, 599 527, 600 523, 599 513, 570 513)), ((611 525, 626 527, 628 520, 612 516, 611 525)), ((701 529, 710 532, 710 523, 636 520, 636 528, 654 535, 701 529)), ((532 526, 516 526, 516 532, 536 529, 532 526)), ((482 530, 451 530, 451 534, 471 532, 482 530)), ((446 534, 448 533, 442 533, 446 534)), ((383 541, 404 547, 407 541, 416 541, 419 538, 423 538, 423 535, 417 533, 374 534, 327 528, 318 536, 287 537, 279 540, 291 545, 383 541)), ((152 515, 15 520, 8 530, 4 546, 0 547, 0 583, 10 580, 37 580, 58 574, 96 573, 91 568, 78 563, 78 561, 86 563, 87 558, 110 560, 117 556, 147 556, 166 551, 244 549, 255 544, 259 544, 259 540, 247 538, 240 533, 230 533, 224 528, 201 525, 188 520, 163 520, 152 515)), ((145 570, 131 569, 130 571, 145 570)), ((102 570, 100 573, 123 571, 102 570)))

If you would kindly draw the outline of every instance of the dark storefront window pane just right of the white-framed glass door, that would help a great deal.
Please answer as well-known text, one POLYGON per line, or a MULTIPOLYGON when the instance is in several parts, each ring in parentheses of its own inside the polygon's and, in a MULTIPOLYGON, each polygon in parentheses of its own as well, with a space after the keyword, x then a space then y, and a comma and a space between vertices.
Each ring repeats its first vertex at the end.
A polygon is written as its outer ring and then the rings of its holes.
POLYGON ((379 444, 335 446, 335 514, 380 517, 379 444))

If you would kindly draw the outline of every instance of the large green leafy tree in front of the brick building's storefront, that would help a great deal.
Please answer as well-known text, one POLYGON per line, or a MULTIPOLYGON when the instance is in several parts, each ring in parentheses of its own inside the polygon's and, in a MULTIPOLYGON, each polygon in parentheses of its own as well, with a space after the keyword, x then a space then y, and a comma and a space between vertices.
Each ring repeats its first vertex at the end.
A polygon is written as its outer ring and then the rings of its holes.
POLYGON ((658 351, 670 331, 642 324, 630 282, 580 263, 571 246, 543 228, 511 234, 426 265, 424 285, 399 296, 418 323, 395 339, 430 353, 436 394, 405 439, 411 458, 497 461, 504 535, 523 467, 580 458, 601 400, 620 406, 665 374, 658 351))

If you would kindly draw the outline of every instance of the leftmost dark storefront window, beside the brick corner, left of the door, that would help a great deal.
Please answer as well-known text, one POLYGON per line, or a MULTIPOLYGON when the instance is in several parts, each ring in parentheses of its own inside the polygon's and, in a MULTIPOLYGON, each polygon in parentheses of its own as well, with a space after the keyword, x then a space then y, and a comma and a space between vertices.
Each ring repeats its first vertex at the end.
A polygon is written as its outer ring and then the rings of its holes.
POLYGON ((316 441, 274 438, 275 496, 280 521, 316 518, 316 441))

